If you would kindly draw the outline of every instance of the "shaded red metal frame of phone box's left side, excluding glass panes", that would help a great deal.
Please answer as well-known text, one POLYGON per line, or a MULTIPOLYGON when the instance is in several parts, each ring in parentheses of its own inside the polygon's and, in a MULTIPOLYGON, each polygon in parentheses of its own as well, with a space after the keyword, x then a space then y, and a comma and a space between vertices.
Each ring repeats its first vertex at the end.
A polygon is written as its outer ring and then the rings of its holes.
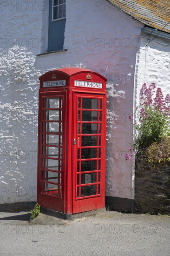
MULTIPOLYGON (((43 207, 51 209, 51 205, 53 204, 53 205, 57 205, 57 208, 55 207, 56 210, 64 211, 63 202, 65 201, 65 199, 64 199, 64 197, 65 197, 65 192, 64 192, 65 186, 63 184, 64 184, 64 176, 65 176, 65 155, 62 154, 62 158, 59 157, 58 159, 56 159, 55 157, 47 157, 45 155, 46 150, 45 149, 42 150, 43 148, 46 148, 46 147, 49 146, 49 147, 52 147, 52 148, 61 148, 62 152, 65 152, 65 140, 63 138, 65 137, 66 116, 63 116, 64 118, 62 119, 62 128, 63 128, 63 130, 62 130, 62 143, 61 143, 61 145, 59 145, 59 146, 56 146, 55 144, 54 145, 52 145, 52 144, 49 145, 46 142, 46 135, 58 135, 59 134, 59 136, 60 136, 60 133, 46 132, 46 128, 43 131, 43 123, 46 124, 48 122, 55 122, 55 121, 46 121, 46 117, 43 120, 43 113, 45 115, 46 111, 48 111, 50 109, 50 108, 44 108, 43 99, 45 99, 45 101, 46 101, 46 99, 54 99, 56 97, 62 99, 63 106, 62 106, 62 108, 54 108, 54 110, 61 110, 62 109, 62 112, 65 113, 66 92, 58 92, 57 95, 55 95, 54 92, 49 92, 49 93, 48 92, 46 92, 46 93, 45 92, 39 92, 39 139, 38 139, 38 141, 39 141, 39 148, 38 148, 39 161, 38 161, 37 199, 38 199, 38 202, 43 207), (44 141, 43 141, 43 135, 44 135, 44 141), (61 170, 57 171, 57 170, 52 170, 50 168, 46 168, 45 159, 51 159, 51 160, 56 160, 56 161, 59 160, 59 162, 62 161, 61 170), (44 165, 42 164, 42 162, 44 162, 44 165), (54 182, 45 181, 45 172, 49 172, 49 171, 53 172, 53 173, 56 173, 56 174, 59 174, 59 178, 61 176, 60 183, 57 182, 57 184, 56 184, 54 182), (44 188, 42 188, 42 182, 48 183, 48 184, 55 184, 59 189, 59 191, 57 191, 58 192, 57 195, 54 195, 54 193, 53 193, 54 190, 51 190, 51 193, 45 193, 44 188), (59 186, 61 188, 59 188, 59 186)), ((58 121, 58 122, 59 122, 59 126, 60 126, 61 121, 58 121)), ((58 122, 56 121, 55 123, 58 123, 58 122)), ((46 127, 46 126, 44 125, 44 127, 46 127)), ((58 180, 59 180, 59 178, 58 178, 58 180)))

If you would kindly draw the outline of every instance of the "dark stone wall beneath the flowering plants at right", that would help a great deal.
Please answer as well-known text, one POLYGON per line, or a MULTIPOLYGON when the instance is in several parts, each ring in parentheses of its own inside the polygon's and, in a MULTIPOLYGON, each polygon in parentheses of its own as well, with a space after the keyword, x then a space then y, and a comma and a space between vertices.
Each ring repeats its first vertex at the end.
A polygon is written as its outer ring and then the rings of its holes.
POLYGON ((170 166, 150 168, 144 158, 135 164, 136 210, 170 215, 170 166))

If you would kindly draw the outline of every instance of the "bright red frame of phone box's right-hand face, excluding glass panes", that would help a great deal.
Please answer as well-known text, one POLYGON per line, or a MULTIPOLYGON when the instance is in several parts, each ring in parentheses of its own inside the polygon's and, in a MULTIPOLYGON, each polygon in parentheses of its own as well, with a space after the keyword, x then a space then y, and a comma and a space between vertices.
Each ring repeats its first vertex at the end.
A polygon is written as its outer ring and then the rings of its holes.
MULTIPOLYGON (((92 95, 92 94, 74 94, 74 102, 77 102, 77 108, 74 108, 74 125, 76 124, 76 129, 74 129, 74 138, 77 139, 77 144, 75 147, 73 146, 73 210, 72 213, 78 213, 83 211, 88 211, 92 209, 98 209, 105 207, 105 95, 92 95), (98 108, 82 108, 82 101, 83 99, 92 99, 98 101, 98 108), (81 105, 78 107, 78 100, 81 100, 81 105), (101 108, 99 108, 101 101, 101 108), (78 112, 80 112, 80 119, 78 121, 78 112), (85 114, 88 112, 97 112, 97 120, 95 121, 82 121, 82 115, 85 112, 85 114), (100 113, 103 117, 100 119, 100 113), (79 124, 79 132, 78 132, 78 124, 79 124), (87 131, 84 131, 82 133, 82 125, 96 125, 97 131, 94 133, 88 133, 87 131), (101 132, 99 131, 101 130, 101 132), (88 145, 82 145, 82 137, 83 138, 93 138, 96 137, 96 145, 94 146, 88 146, 88 145), (100 138, 100 139, 99 139, 100 138), (100 141, 100 142, 99 142, 100 141), (90 157, 90 155, 83 156, 83 159, 81 159, 82 150, 89 150, 92 149, 92 153, 96 155, 96 157, 90 157), (79 153, 78 153, 79 151, 79 153), (79 155, 79 156, 78 156, 79 155), (96 162, 97 168, 93 168, 93 170, 86 170, 82 171, 81 165, 82 163, 94 163, 96 162), (99 164, 100 163, 100 164, 99 164), (79 167, 78 167, 79 166, 79 167), (82 183, 82 176, 89 175, 95 176, 96 175, 96 181, 93 182, 83 182, 82 183), (100 176, 100 179, 99 179, 100 176), (94 191, 88 192, 88 189, 91 189, 95 187, 94 191), (92 195, 83 195, 81 193, 81 189, 86 190, 87 194, 92 195)), ((95 114, 95 113, 94 113, 95 114)), ((89 168, 88 166, 87 168, 89 168)), ((88 176, 87 176, 88 177, 88 176)))

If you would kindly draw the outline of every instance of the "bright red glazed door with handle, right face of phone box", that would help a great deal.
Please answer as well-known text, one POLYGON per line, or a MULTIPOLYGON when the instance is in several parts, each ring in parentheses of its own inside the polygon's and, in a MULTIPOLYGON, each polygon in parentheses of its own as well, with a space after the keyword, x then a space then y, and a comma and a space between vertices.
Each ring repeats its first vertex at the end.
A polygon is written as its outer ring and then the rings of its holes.
POLYGON ((105 207, 105 95, 74 93, 73 213, 105 207))

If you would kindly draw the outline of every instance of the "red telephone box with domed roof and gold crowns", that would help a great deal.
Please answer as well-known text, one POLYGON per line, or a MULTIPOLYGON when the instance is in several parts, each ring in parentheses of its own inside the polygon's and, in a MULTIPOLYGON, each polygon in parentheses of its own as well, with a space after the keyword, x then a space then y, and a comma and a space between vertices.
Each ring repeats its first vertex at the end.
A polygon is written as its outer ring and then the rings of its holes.
POLYGON ((64 67, 39 80, 37 202, 66 214, 104 208, 107 79, 64 67))

